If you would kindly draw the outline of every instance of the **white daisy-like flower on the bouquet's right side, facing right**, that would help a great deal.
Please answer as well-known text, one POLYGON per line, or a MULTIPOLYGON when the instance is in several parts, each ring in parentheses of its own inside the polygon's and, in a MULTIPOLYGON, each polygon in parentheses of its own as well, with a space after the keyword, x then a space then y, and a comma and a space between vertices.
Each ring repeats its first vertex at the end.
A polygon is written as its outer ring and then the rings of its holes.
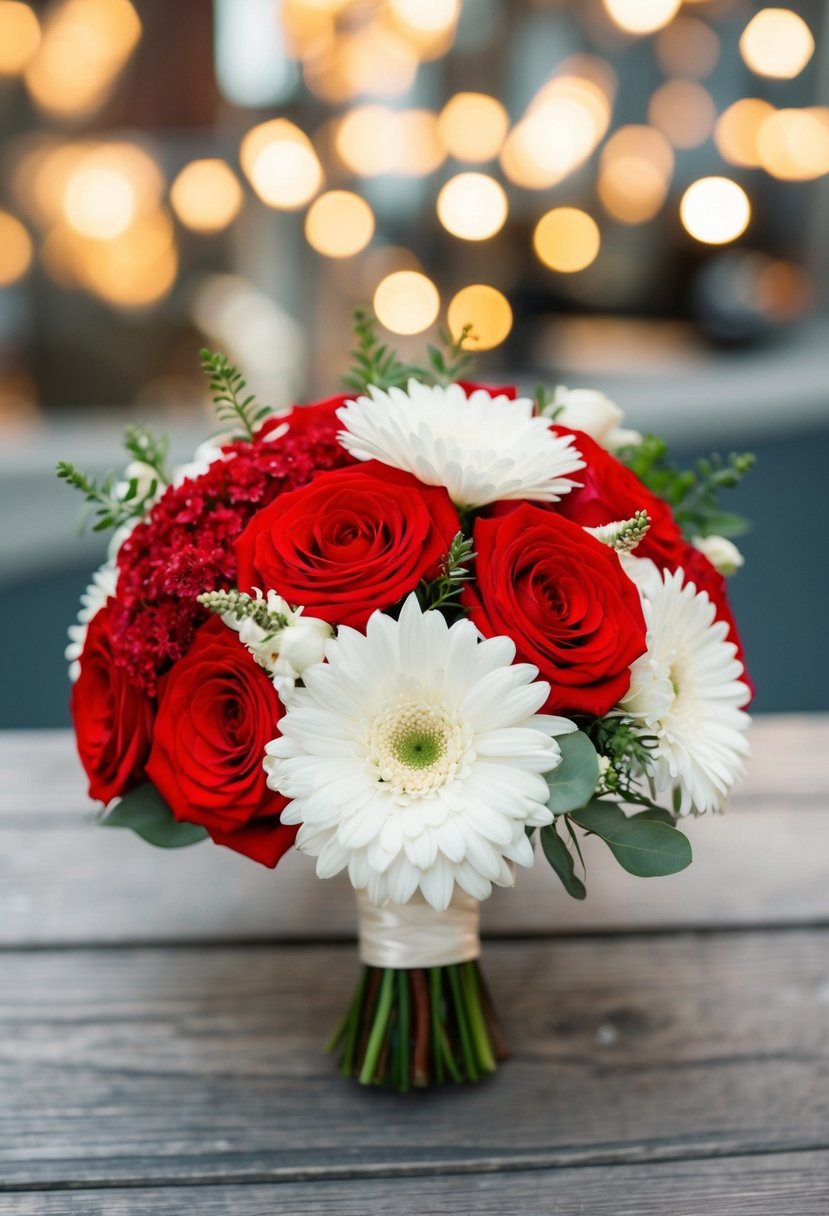
POLYGON ((624 558, 639 587, 648 649, 631 668, 621 710, 656 736, 654 781, 679 790, 679 814, 722 810, 749 751, 743 664, 707 595, 683 572, 624 558))

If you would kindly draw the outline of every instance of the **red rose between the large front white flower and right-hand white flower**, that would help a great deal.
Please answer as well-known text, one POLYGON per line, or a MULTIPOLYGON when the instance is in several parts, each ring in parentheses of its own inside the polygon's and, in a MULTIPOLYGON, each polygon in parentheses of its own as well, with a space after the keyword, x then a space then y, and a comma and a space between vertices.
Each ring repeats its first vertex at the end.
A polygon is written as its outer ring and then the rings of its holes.
POLYGON ((543 507, 475 523, 475 584, 463 593, 487 637, 506 634, 551 685, 546 709, 600 716, 645 651, 639 592, 616 553, 543 507))

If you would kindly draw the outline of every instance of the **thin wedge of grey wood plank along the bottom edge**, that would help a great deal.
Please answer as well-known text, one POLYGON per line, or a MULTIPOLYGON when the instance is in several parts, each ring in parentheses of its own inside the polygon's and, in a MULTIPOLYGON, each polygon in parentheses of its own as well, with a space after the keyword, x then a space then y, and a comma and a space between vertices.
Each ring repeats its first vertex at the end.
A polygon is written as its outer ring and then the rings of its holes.
POLYGON ((825 1216, 829 1154, 273 1186, 0 1195, 0 1216, 825 1216))

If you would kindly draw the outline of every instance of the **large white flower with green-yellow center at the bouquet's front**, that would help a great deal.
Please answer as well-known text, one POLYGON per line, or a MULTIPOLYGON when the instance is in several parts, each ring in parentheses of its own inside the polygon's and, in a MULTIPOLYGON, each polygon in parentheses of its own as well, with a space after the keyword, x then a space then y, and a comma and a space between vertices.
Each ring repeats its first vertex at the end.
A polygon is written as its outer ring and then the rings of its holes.
POLYGON ((317 874, 348 867, 371 900, 419 888, 444 910, 455 884, 485 899, 532 865, 526 826, 552 821, 542 773, 560 762, 566 719, 537 714, 548 685, 513 663, 507 637, 447 625, 410 596, 399 620, 340 629, 309 668, 269 743, 267 784, 292 799, 283 823, 317 874))

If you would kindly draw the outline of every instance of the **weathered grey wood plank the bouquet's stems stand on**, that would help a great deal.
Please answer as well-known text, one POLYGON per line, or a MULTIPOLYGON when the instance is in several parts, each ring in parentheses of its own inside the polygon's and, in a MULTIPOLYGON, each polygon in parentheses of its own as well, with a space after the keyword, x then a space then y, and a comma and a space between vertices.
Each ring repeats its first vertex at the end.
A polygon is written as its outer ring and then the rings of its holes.
POLYGON ((514 1048, 401 1098, 321 1052, 349 947, 12 952, 0 1189, 829 1148, 829 931, 497 942, 514 1048))

